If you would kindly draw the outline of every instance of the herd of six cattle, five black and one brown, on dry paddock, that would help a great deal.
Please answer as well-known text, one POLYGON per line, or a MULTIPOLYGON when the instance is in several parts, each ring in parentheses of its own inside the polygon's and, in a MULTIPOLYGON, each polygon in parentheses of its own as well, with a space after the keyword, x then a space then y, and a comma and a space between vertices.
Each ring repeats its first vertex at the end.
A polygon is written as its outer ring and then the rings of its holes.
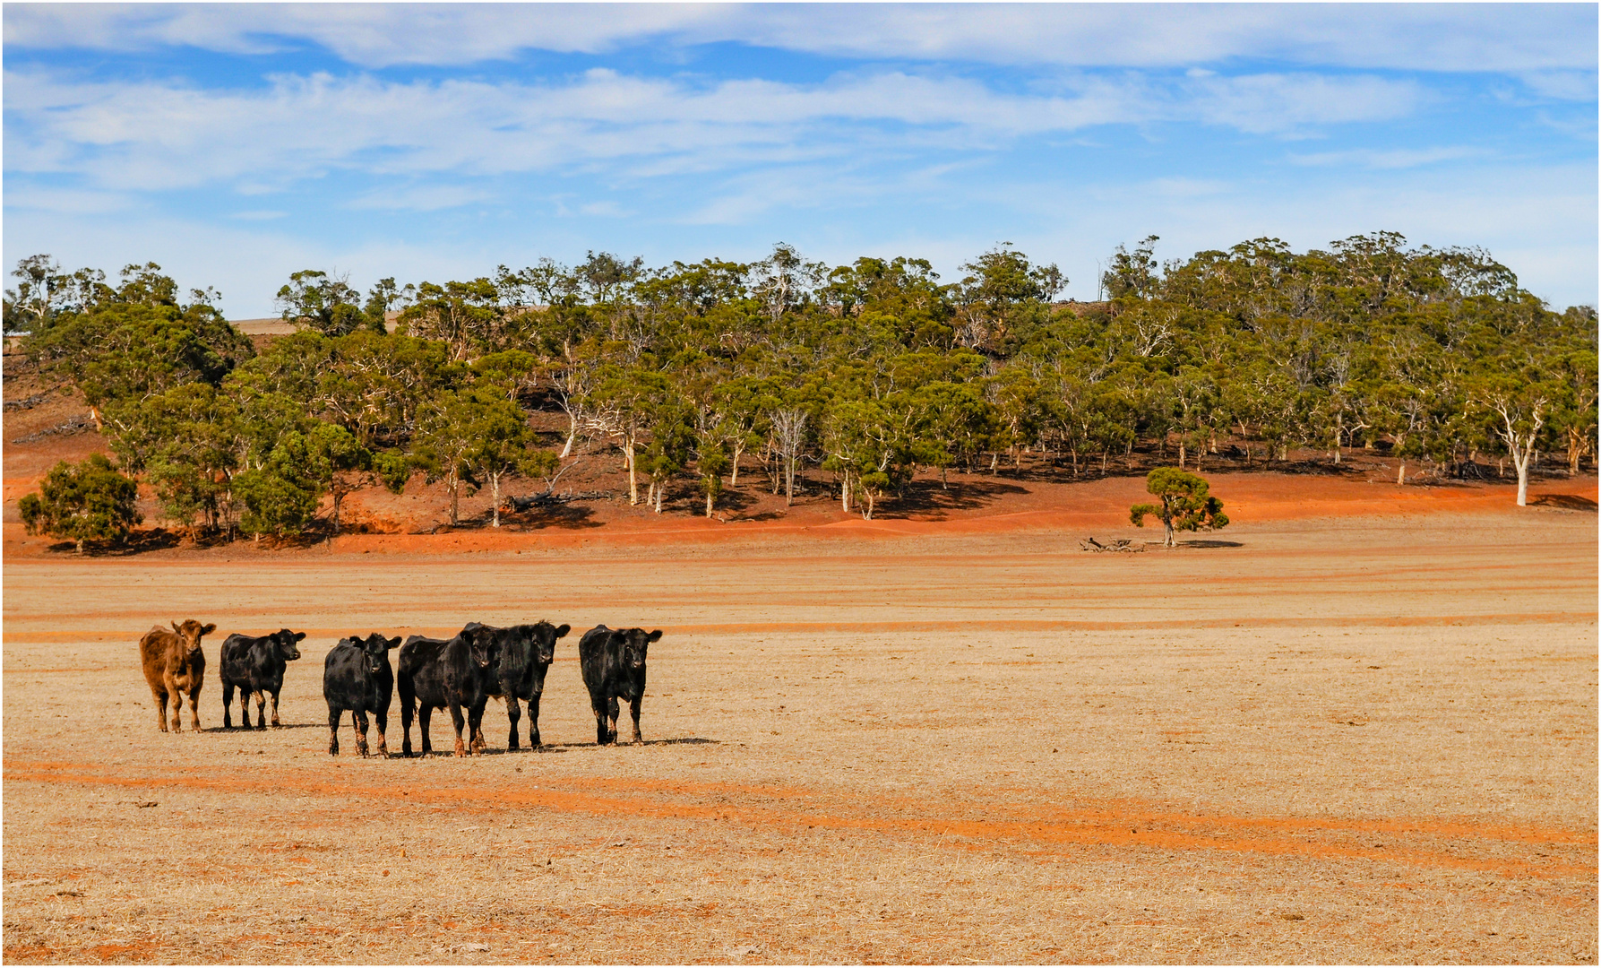
MULTIPOLYGON (((189 724, 200 729, 200 686, 205 680, 205 651, 200 639, 216 625, 194 619, 173 622, 171 631, 157 625, 139 639, 144 680, 155 697, 157 724, 167 732, 167 702, 173 704, 171 728, 181 729, 183 700, 189 700, 189 724)), ((416 718, 423 737, 423 753, 434 752, 427 726, 434 710, 450 710, 456 728, 456 755, 484 752, 484 707, 490 699, 506 704, 511 732, 506 748, 517 748, 517 723, 522 704, 528 704, 528 745, 540 745, 540 696, 544 673, 556 659, 556 639, 568 625, 536 622, 496 628, 469 622, 451 638, 413 635, 386 638, 339 639, 322 668, 322 696, 328 700, 328 753, 339 753, 339 720, 351 713, 355 750, 368 755, 367 721, 378 724, 378 755, 387 756, 384 729, 389 724, 389 700, 399 686, 402 752, 411 756, 411 720, 416 718), (389 652, 400 649, 395 665, 389 652), (463 742, 463 728, 467 740, 463 742)), ((266 729, 267 700, 272 700, 272 724, 279 726, 279 692, 283 689, 285 667, 299 659, 304 631, 280 628, 272 635, 231 635, 223 641, 218 676, 223 681, 223 726, 232 728, 231 705, 239 689, 240 728, 250 728, 250 699, 256 700, 256 728, 266 729)), ((645 696, 645 652, 661 631, 644 628, 607 628, 596 625, 578 639, 578 665, 589 705, 596 715, 596 742, 616 742, 618 700, 626 699, 634 720, 634 742, 639 734, 639 702, 645 696)))

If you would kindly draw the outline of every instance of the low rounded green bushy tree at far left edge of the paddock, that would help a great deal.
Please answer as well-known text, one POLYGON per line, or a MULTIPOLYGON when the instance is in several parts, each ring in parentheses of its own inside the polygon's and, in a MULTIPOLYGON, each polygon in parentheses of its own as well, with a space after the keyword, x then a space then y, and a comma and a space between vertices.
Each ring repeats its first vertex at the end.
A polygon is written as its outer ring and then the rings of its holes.
POLYGON ((138 484, 104 454, 90 454, 77 466, 62 460, 51 468, 38 494, 22 495, 18 513, 27 534, 67 538, 82 555, 83 542, 122 542, 144 521, 134 508, 138 494, 138 484))

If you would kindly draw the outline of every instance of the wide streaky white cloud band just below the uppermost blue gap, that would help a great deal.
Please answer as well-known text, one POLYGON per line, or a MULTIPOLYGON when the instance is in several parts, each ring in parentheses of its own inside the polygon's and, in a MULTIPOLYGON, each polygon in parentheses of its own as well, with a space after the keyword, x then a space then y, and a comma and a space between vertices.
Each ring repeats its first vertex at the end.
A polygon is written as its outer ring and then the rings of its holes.
MULTIPOLYGON (((282 75, 264 90, 6 74, 6 171, 77 173, 152 191, 237 181, 271 192, 333 170, 367 175, 549 171, 626 160, 647 170, 725 170, 930 144, 986 151, 1108 123, 1201 120, 1242 131, 1383 120, 1423 95, 1406 80, 1262 74, 1085 77, 1068 93, 1010 95, 905 72, 791 85, 589 71, 572 83, 384 82, 282 75)), ((471 199, 435 191, 413 207, 471 199)), ((463 191, 463 189, 458 189, 463 191)))

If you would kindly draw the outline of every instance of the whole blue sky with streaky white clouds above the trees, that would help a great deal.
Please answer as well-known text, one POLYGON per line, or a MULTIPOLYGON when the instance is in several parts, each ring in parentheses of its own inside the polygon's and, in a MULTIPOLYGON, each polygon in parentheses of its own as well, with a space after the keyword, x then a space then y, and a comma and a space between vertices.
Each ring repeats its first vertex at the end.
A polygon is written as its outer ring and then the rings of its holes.
POLYGON ((6 3, 5 261, 237 319, 562 263, 1393 229, 1596 305, 1596 5, 6 3))

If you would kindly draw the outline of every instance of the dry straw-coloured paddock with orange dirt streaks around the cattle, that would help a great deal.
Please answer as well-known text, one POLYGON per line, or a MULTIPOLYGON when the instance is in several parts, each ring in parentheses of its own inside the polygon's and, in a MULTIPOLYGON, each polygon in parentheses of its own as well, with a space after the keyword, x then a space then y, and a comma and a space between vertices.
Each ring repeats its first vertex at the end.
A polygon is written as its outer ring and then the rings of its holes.
POLYGON ((1593 511, 636 537, 11 559, 5 958, 1596 960, 1593 511), (162 734, 134 641, 186 617, 162 734), (546 748, 492 702, 490 755, 328 756, 338 636, 540 617, 666 631, 645 744, 594 745, 575 631, 546 748), (287 726, 218 729, 279 625, 287 726))

